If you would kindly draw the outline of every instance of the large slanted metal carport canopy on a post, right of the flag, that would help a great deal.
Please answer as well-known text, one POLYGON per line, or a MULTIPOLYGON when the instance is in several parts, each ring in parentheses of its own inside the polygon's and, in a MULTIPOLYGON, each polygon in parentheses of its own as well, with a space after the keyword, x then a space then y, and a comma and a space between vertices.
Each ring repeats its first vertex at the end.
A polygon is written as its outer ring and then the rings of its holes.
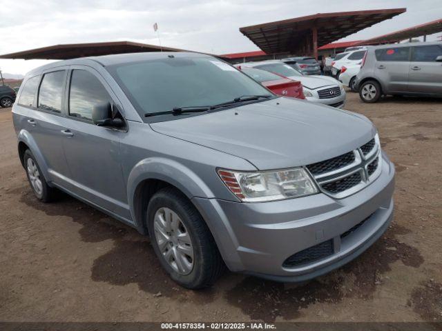
POLYGON ((347 37, 385 19, 391 19, 405 11, 406 8, 392 8, 318 13, 246 26, 240 28, 240 32, 267 54, 291 52, 291 54, 317 56, 318 47, 347 37))

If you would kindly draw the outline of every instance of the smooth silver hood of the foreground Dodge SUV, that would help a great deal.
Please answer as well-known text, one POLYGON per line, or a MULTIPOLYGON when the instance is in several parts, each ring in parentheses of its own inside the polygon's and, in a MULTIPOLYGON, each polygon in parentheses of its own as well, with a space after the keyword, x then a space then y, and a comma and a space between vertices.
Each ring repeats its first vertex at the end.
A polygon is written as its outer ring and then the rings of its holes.
MULTIPOLYGON (((183 115, 182 115, 183 116, 183 115)), ((156 132, 246 159, 259 170, 307 165, 367 143, 366 117, 292 98, 151 123, 156 132)), ((198 159, 198 155, 189 155, 198 159)))

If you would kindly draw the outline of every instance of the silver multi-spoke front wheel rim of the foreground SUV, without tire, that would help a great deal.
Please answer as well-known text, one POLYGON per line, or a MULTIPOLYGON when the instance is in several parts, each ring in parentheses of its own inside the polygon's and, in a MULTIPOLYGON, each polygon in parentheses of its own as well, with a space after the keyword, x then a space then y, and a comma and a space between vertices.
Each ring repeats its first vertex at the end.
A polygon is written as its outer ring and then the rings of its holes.
POLYGON ((160 208, 153 219, 155 240, 162 257, 178 274, 189 274, 193 269, 193 246, 186 226, 176 212, 160 208))

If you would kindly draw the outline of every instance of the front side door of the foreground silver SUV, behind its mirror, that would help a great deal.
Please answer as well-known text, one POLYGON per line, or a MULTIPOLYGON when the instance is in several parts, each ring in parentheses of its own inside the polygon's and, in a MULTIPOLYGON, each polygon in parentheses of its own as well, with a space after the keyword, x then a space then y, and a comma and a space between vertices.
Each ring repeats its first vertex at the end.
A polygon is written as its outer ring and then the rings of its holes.
POLYGON ((119 159, 119 141, 126 132, 92 121, 93 107, 118 103, 115 94, 93 68, 71 66, 66 100, 63 146, 71 174, 69 189, 119 216, 130 217, 119 159))

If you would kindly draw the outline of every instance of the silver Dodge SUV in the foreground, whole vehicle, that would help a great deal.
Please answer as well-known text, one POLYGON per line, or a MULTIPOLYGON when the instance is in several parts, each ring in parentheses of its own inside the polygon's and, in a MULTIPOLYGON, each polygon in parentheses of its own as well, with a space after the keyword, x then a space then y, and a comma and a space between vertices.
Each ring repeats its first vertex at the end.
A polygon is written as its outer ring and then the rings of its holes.
POLYGON ((204 54, 50 63, 26 75, 17 100, 37 199, 63 190, 148 234, 186 288, 210 285, 225 265, 317 277, 392 219, 394 166, 366 117, 278 97, 204 54))

